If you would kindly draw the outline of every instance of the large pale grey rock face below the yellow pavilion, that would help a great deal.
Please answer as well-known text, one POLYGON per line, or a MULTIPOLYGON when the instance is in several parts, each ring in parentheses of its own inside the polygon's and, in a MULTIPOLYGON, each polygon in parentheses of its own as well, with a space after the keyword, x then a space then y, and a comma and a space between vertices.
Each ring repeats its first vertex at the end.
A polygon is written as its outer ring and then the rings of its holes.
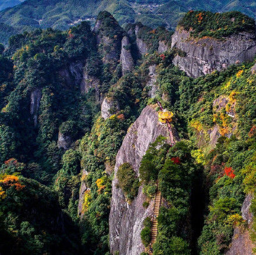
POLYGON ((168 130, 164 125, 159 124, 157 112, 151 106, 147 106, 127 131, 116 156, 109 215, 109 244, 112 254, 119 251, 120 255, 140 255, 144 251, 140 232, 143 229, 144 219, 153 214, 154 202, 151 201, 147 209, 143 207, 145 196, 140 186, 137 197, 128 204, 122 189, 116 186, 118 184, 116 173, 123 163, 130 163, 138 175, 143 155, 150 143, 159 135, 167 136, 168 130))

